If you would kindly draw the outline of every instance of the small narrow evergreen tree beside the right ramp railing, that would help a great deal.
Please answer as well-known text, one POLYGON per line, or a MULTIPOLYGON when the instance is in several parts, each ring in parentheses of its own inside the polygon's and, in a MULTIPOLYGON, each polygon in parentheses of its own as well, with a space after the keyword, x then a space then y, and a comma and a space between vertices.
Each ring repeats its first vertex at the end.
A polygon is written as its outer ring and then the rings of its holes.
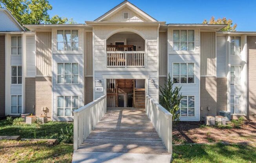
POLYGON ((173 116, 172 121, 179 121, 179 104, 181 102, 181 87, 173 87, 174 82, 171 80, 170 74, 168 74, 167 83, 164 87, 159 87, 161 95, 159 97, 159 103, 166 110, 168 110, 173 116))

